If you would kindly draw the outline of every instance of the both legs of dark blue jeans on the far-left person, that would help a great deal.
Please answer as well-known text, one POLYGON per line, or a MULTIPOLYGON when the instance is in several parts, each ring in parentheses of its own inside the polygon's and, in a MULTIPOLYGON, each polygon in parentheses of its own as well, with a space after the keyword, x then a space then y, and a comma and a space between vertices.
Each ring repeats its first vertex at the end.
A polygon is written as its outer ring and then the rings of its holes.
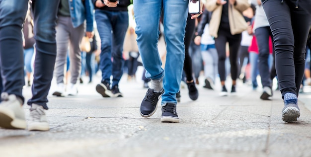
MULTIPOLYGON (((47 107, 47 95, 56 58, 55 26, 60 0, 32 0, 36 58, 32 84, 32 98, 27 104, 47 107)), ((0 0, 0 67, 3 90, 24 101, 23 47, 21 28, 26 16, 28 0, 0 0)))

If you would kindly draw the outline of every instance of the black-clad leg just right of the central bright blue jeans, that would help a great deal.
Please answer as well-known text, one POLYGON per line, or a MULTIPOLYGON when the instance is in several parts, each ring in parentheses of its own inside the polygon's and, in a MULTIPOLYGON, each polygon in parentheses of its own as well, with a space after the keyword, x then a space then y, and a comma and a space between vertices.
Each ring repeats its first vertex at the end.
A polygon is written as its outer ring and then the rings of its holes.
POLYGON ((192 78, 192 60, 189 55, 189 45, 191 40, 193 39, 193 33, 195 30, 195 20, 190 18, 191 15, 188 15, 187 25, 186 25, 186 33, 185 33, 185 61, 184 61, 184 72, 187 81, 191 81, 192 78))

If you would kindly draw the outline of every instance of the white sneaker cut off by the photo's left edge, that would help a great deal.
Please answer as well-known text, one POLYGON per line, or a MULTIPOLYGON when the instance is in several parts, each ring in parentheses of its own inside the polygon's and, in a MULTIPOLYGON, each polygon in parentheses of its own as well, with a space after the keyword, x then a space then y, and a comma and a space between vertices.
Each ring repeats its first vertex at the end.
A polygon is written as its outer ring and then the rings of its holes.
POLYGON ((1 94, 0 127, 8 129, 25 129, 27 126, 25 113, 20 101, 14 94, 1 94))

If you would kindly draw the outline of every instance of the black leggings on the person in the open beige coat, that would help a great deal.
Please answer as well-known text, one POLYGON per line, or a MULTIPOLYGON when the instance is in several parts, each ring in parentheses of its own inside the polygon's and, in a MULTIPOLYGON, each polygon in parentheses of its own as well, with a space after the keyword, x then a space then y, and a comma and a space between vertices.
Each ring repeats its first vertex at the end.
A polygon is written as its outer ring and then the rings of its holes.
POLYGON ((229 25, 228 27, 220 26, 218 31, 218 37, 215 38, 215 46, 218 52, 218 72, 221 81, 226 80, 226 68, 225 68, 225 61, 226 61, 226 42, 229 42, 229 59, 231 65, 231 78, 236 80, 238 74, 238 49, 240 47, 242 35, 236 34, 232 35, 230 33, 229 25))

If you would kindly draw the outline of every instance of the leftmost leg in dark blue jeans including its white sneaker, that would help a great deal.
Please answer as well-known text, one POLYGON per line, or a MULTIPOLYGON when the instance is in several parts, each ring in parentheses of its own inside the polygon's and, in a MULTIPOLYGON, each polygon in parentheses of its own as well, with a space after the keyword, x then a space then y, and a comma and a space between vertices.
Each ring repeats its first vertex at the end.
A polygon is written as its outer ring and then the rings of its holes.
POLYGON ((27 0, 0 0, 0 127, 8 129, 27 126, 22 108, 25 80, 21 31, 27 3, 27 0))

